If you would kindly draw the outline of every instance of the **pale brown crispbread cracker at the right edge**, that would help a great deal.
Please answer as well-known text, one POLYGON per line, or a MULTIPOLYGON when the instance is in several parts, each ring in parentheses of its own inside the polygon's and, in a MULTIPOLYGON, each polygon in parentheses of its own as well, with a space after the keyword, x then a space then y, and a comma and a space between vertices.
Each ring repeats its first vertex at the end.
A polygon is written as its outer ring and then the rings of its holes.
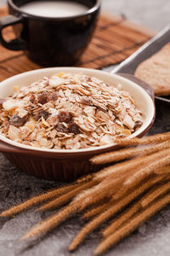
POLYGON ((156 96, 170 94, 170 43, 143 61, 134 75, 150 84, 156 96))

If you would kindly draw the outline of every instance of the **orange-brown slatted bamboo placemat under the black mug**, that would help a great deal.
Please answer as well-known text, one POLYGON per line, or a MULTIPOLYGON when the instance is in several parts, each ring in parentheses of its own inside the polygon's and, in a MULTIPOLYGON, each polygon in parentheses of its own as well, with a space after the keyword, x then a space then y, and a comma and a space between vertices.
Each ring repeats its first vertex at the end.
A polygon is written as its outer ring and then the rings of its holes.
MULTIPOLYGON (((7 15, 6 8, 0 9, 0 17, 3 15, 7 15)), ((3 33, 6 39, 14 38, 11 27, 5 28, 3 33)), ((100 69, 118 64, 154 35, 155 32, 123 16, 102 14, 92 42, 74 66, 100 69)), ((28 60, 22 51, 11 51, 0 45, 0 81, 37 68, 39 66, 28 60)))

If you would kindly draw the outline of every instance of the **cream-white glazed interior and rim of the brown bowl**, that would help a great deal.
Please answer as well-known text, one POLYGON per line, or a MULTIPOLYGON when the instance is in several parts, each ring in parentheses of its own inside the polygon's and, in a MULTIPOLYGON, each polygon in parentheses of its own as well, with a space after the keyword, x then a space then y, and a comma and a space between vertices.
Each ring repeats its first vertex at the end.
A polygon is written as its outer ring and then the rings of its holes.
MULTIPOLYGON (((20 88, 22 86, 29 85, 38 79, 41 79, 43 76, 51 76, 55 73, 82 73, 86 74, 88 76, 94 76, 96 78, 99 78, 103 80, 104 82, 110 84, 110 85, 116 85, 116 84, 122 84, 122 90, 129 91, 130 95, 133 96, 133 100, 136 103, 137 108, 143 113, 143 119, 144 124, 139 127, 139 130, 135 131, 130 137, 137 137, 142 131, 144 131, 152 122, 155 116, 155 106, 148 95, 148 93, 141 88, 138 84, 133 83, 132 81, 128 79, 124 79, 121 76, 118 76, 116 74, 111 73, 105 73, 103 71, 95 70, 95 69, 89 69, 89 68, 81 68, 81 67, 50 67, 50 68, 42 68, 37 69, 33 71, 29 71, 26 73, 20 73, 19 75, 16 75, 14 77, 11 77, 9 79, 4 80, 0 83, 0 97, 7 97, 14 94, 14 86, 19 86, 20 88)), ((27 149, 35 149, 39 151, 53 151, 53 152, 77 152, 75 149, 48 149, 48 148, 36 148, 27 146, 21 143, 15 143, 11 140, 9 140, 6 137, 3 137, 0 135, 0 139, 3 142, 10 143, 14 146, 20 147, 20 148, 27 148, 27 149)), ((101 148, 108 148, 113 146, 114 144, 109 144, 105 146, 95 147, 95 148, 85 148, 85 149, 78 149, 79 152, 81 151, 89 151, 92 149, 98 150, 101 148)))

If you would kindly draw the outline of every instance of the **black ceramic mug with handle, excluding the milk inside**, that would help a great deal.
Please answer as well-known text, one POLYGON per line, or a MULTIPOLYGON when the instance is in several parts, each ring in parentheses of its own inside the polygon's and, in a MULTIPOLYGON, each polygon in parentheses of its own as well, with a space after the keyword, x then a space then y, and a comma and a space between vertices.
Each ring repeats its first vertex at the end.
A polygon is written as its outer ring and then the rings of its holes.
POLYGON ((0 19, 0 41, 3 46, 12 50, 24 50, 32 61, 44 67, 75 63, 94 33, 100 0, 69 0, 81 3, 88 9, 81 15, 67 17, 27 14, 21 10, 21 6, 30 2, 35 0, 8 0, 9 15, 0 19), (17 37, 9 42, 3 38, 3 28, 7 26, 14 26, 17 37))

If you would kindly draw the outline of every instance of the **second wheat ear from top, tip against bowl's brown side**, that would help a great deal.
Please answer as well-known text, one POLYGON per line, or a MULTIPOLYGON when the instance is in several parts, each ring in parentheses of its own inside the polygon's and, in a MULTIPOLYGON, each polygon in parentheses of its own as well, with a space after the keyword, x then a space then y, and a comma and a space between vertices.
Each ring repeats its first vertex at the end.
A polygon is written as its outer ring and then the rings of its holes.
POLYGON ((94 165, 104 165, 106 163, 111 163, 115 161, 125 160, 128 158, 132 158, 138 154, 147 155, 155 153, 159 150, 169 148, 170 142, 166 141, 163 143, 159 143, 156 145, 146 146, 146 147, 139 147, 139 148, 123 148, 117 151, 99 154, 94 156, 90 161, 94 165))

